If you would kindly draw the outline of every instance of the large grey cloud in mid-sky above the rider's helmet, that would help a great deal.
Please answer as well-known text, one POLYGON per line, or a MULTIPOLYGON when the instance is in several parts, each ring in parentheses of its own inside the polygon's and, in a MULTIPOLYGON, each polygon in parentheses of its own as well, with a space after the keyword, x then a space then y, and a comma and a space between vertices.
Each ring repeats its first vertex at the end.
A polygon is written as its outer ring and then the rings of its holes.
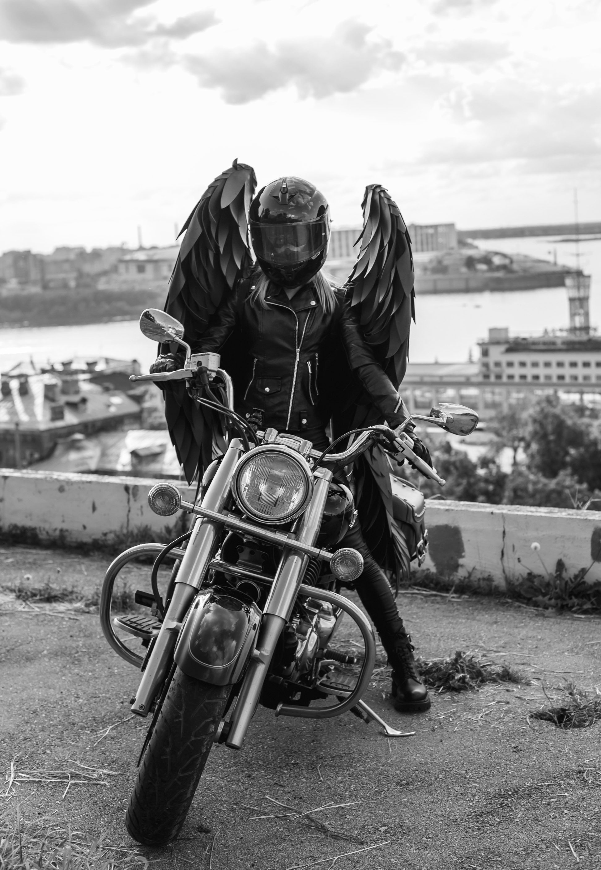
POLYGON ((290 84, 300 97, 329 97, 403 64, 404 56, 388 39, 368 40, 370 30, 346 21, 330 37, 281 40, 273 48, 256 42, 242 50, 188 56, 184 65, 202 87, 220 90, 226 103, 249 103, 290 84))

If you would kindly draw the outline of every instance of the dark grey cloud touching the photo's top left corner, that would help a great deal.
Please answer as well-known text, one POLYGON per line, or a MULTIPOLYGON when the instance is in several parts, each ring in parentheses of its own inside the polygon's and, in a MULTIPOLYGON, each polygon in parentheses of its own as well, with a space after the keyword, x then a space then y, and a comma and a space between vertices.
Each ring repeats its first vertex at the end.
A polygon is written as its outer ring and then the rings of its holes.
POLYGON ((171 24, 132 14, 153 0, 0 0, 0 35, 13 43, 91 42, 136 46, 153 37, 184 39, 217 23, 213 10, 171 24))

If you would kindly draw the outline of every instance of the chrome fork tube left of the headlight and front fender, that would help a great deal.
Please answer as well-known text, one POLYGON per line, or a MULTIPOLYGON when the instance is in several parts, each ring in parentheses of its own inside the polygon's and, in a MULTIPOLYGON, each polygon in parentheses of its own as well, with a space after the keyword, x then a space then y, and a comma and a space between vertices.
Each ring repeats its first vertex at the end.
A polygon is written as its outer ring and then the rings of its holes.
MULTIPOLYGON (((226 506, 230 494, 233 467, 238 462, 241 452, 242 443, 238 438, 233 438, 203 499, 203 504, 210 510, 220 512, 226 506)), ((211 519, 199 518, 194 524, 192 537, 182 557, 178 576, 173 586, 171 603, 167 608, 152 655, 140 680, 138 692, 132 701, 132 713, 137 713, 138 716, 148 715, 152 700, 171 667, 181 620, 186 616, 192 599, 202 586, 222 530, 223 525, 211 519)))

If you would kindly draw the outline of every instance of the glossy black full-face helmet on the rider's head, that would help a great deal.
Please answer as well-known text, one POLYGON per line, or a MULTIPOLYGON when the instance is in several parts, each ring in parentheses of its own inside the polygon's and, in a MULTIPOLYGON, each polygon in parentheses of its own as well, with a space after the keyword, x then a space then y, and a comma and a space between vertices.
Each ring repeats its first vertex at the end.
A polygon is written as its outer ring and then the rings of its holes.
POLYGON ((248 217, 257 262, 276 284, 307 284, 326 262, 328 201, 304 178, 286 176, 266 184, 254 197, 248 217))

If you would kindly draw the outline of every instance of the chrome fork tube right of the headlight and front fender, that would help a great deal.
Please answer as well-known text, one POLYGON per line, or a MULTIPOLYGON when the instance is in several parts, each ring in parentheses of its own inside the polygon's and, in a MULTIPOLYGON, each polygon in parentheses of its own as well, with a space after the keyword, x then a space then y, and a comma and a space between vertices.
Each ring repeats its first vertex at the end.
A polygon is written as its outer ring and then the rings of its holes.
MULTIPOLYGON (((315 472, 317 479, 313 498, 307 511, 300 519, 296 534, 296 539, 303 544, 313 545, 317 538, 332 477, 332 472, 327 468, 320 468, 318 472, 315 472)), ((259 703, 260 693, 275 652, 275 646, 283 627, 290 618, 308 560, 309 557, 303 553, 284 547, 280 566, 263 610, 257 646, 246 669, 240 695, 232 713, 226 745, 233 749, 240 749, 244 743, 246 731, 259 703)))

